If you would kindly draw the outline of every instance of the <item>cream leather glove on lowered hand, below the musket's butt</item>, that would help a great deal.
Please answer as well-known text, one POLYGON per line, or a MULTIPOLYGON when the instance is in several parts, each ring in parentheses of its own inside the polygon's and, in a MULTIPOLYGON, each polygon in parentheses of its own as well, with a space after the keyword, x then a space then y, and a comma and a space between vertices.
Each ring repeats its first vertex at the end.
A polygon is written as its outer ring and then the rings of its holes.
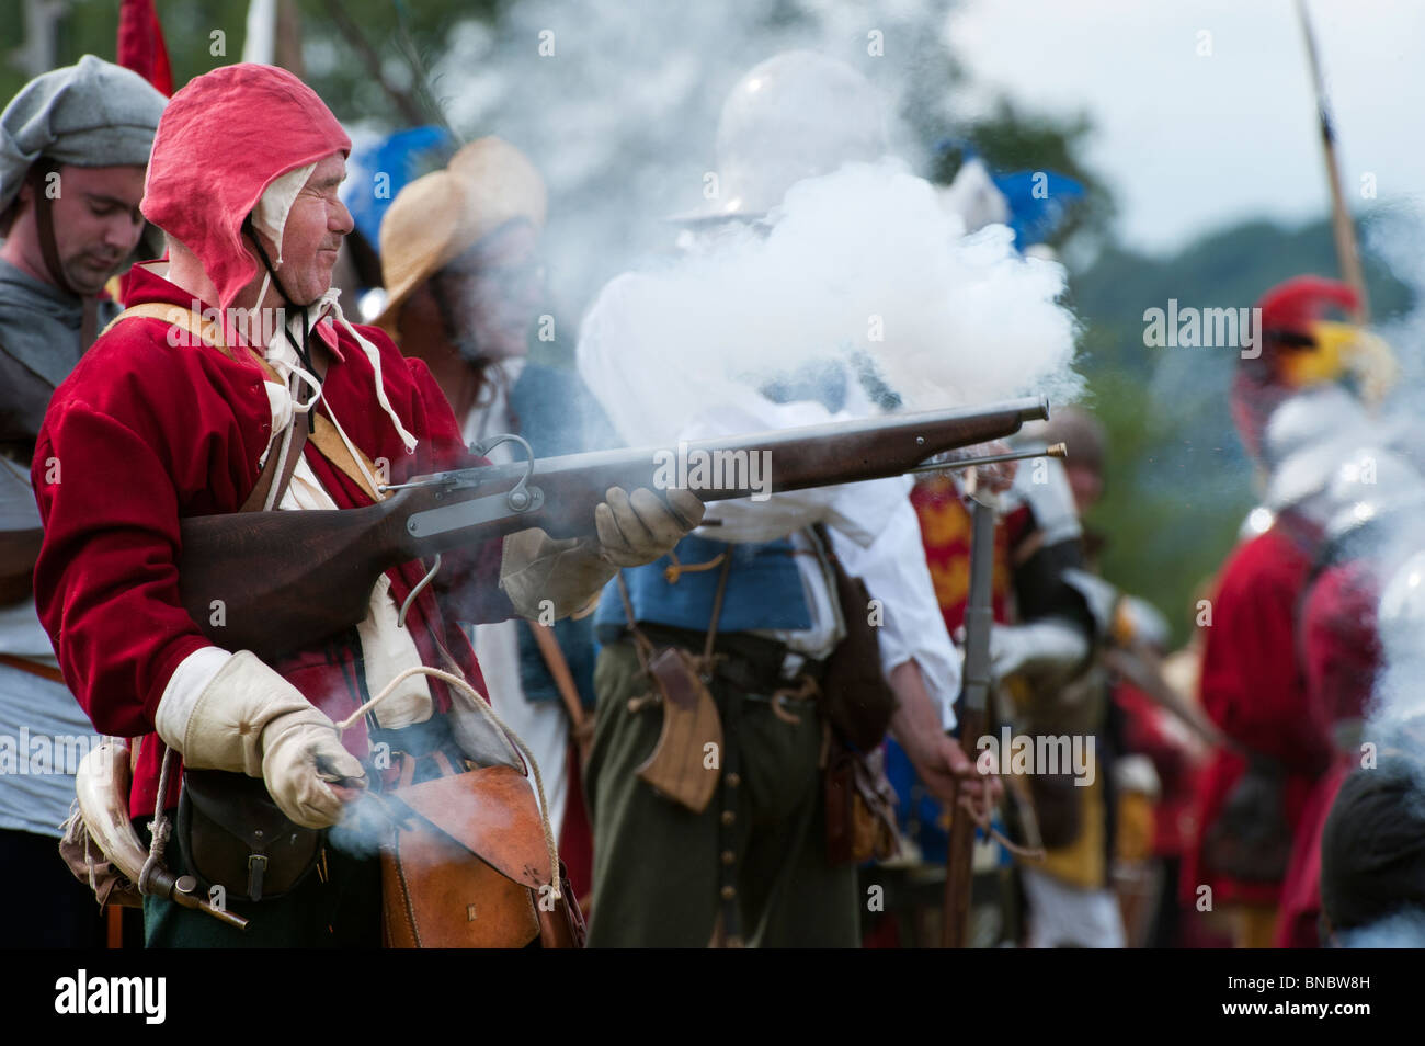
POLYGON ((304 828, 341 819, 342 802, 326 781, 366 775, 336 725, 248 650, 228 658, 187 714, 165 714, 160 703, 155 725, 194 770, 261 777, 278 808, 304 828))

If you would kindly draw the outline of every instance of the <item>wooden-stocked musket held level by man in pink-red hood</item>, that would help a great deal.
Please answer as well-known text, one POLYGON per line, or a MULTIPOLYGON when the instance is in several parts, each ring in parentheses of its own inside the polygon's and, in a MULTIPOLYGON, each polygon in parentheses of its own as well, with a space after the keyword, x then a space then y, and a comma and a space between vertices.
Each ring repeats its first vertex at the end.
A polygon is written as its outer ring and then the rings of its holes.
POLYGON ((519 436, 500 436, 523 445, 527 460, 418 476, 358 509, 185 519, 180 596, 214 643, 274 658, 359 624, 376 580, 402 563, 526 527, 556 539, 593 533, 594 506, 613 486, 685 486, 712 502, 885 479, 1047 416, 1040 396, 539 459, 519 436), (712 483, 695 482, 700 463, 712 483))

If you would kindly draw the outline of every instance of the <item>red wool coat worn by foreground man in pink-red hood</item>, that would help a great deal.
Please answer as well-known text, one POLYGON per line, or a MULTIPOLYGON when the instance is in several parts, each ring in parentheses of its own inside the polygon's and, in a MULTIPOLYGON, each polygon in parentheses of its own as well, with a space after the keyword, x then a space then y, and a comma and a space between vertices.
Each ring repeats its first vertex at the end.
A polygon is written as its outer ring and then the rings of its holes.
MULTIPOLYGON (((192 305, 191 295, 135 268, 128 304, 141 302, 192 305)), ((100 338, 56 390, 34 459, 44 519, 34 580, 40 620, 94 727, 120 737, 152 732, 174 668, 208 644, 178 601, 178 522, 235 512, 256 483, 271 435, 262 372, 248 353, 239 349, 228 358, 207 345, 174 348, 171 329, 160 319, 127 319, 100 338)), ((425 363, 405 359, 376 328, 362 328, 380 351, 392 408, 419 440, 408 455, 376 405, 373 371, 355 338, 329 322, 318 332, 331 348, 323 399, 368 457, 390 462, 393 483, 476 463, 425 363)), ((338 507, 370 503, 311 440, 305 457, 338 507)), ((422 660, 440 664, 439 637, 480 693, 484 681, 475 653, 455 621, 513 614, 497 586, 499 564, 500 542, 447 554, 446 590, 436 596, 435 586, 426 589, 406 618, 422 660)), ((423 573, 419 561, 388 571, 398 604, 423 573)), ((352 630, 272 667, 336 720, 363 700, 355 671, 359 654, 352 630)), ((449 708, 443 684, 430 680, 430 688, 436 707, 449 708)), ((349 730, 343 742, 365 755, 365 727, 349 730)), ((130 804, 134 817, 154 809, 160 748, 157 735, 142 744, 130 804)), ((177 795, 174 781, 168 805, 177 795)))

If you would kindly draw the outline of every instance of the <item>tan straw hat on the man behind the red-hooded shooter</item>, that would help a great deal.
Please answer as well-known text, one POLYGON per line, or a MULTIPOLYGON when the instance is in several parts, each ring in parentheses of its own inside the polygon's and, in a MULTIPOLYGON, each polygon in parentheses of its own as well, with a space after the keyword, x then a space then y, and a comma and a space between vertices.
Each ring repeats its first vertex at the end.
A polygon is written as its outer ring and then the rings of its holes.
POLYGON ((400 306, 420 284, 514 218, 544 227, 544 180, 523 152, 479 138, 443 171, 406 185, 380 222, 386 305, 376 323, 395 332, 400 306))

